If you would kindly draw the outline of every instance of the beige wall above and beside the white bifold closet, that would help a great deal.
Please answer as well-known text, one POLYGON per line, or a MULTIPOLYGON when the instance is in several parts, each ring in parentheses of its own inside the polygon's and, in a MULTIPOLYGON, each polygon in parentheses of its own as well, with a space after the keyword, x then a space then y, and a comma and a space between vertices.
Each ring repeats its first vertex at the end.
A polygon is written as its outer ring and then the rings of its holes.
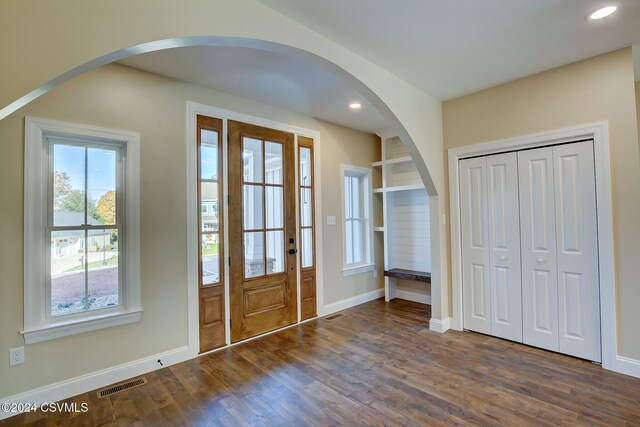
MULTIPOLYGON (((640 164, 633 85, 628 48, 445 102, 443 123, 449 149, 609 122, 618 353, 640 359, 640 164)), ((448 203, 447 198, 447 208, 448 203)), ((449 233, 449 247, 450 238, 449 233)))

